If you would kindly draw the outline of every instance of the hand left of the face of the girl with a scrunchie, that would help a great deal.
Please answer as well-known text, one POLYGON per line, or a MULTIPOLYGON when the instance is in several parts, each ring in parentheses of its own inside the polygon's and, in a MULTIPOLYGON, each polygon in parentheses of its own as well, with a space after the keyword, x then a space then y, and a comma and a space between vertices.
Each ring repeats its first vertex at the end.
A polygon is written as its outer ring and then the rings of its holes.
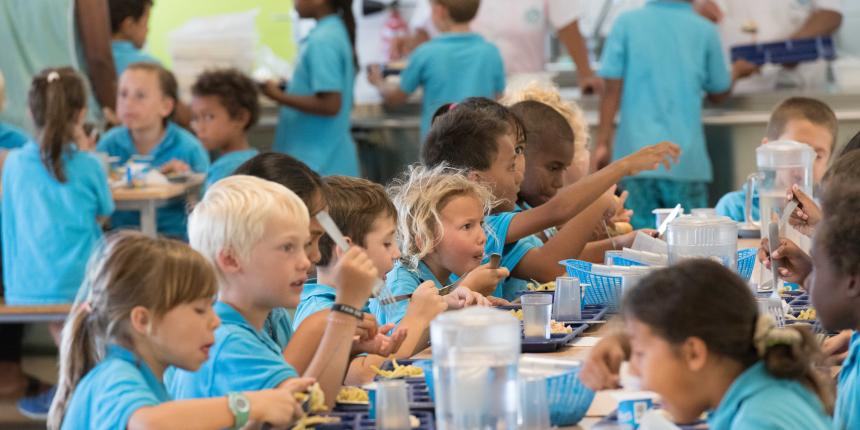
POLYGON ((592 390, 619 388, 621 363, 627 359, 626 338, 606 336, 594 346, 579 372, 579 379, 592 390))

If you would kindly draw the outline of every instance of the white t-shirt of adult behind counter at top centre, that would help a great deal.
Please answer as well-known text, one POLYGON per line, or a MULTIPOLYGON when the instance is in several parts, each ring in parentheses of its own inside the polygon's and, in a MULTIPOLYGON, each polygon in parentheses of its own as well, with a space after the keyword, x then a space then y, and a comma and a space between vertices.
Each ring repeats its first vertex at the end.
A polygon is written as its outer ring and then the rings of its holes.
MULTIPOLYGON (((472 30, 499 48, 507 74, 540 72, 547 34, 579 19, 582 9, 580 0, 484 0, 472 30)), ((410 26, 435 36, 430 15, 429 0, 419 0, 410 26)))

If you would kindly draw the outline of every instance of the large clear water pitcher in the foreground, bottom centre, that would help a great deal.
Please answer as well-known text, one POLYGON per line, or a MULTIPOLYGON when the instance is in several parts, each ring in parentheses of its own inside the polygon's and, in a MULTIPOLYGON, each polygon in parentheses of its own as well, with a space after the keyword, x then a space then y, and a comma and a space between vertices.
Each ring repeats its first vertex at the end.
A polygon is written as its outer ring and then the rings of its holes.
POLYGON ((491 308, 446 312, 430 324, 430 339, 437 427, 516 429, 519 321, 491 308))

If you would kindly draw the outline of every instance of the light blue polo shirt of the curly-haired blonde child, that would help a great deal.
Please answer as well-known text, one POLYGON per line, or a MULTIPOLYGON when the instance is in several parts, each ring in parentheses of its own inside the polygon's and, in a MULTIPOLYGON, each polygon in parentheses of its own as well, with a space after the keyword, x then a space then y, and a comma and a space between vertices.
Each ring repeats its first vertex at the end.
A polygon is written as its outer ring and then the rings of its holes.
MULTIPOLYGON (((400 296, 404 294, 412 294, 418 289, 424 281, 433 281, 436 288, 441 289, 444 285, 436 279, 430 268, 423 261, 418 263, 417 270, 410 269, 402 261, 394 263, 394 268, 388 272, 385 277, 385 285, 392 296, 400 296)), ((370 300, 370 312, 376 317, 379 325, 393 323, 400 324, 400 320, 406 315, 406 309, 409 307, 409 300, 399 301, 397 303, 382 306, 376 299, 370 300)))

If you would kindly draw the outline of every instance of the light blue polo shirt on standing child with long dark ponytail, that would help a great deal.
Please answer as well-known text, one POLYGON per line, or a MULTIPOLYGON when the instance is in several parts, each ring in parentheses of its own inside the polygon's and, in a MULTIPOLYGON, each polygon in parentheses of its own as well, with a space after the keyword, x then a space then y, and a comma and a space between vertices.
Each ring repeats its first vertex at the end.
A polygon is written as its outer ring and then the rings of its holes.
POLYGON ((321 176, 359 176, 358 152, 350 133, 355 66, 343 21, 328 15, 301 43, 288 94, 340 93, 340 111, 314 115, 283 106, 273 149, 298 158, 321 176))

